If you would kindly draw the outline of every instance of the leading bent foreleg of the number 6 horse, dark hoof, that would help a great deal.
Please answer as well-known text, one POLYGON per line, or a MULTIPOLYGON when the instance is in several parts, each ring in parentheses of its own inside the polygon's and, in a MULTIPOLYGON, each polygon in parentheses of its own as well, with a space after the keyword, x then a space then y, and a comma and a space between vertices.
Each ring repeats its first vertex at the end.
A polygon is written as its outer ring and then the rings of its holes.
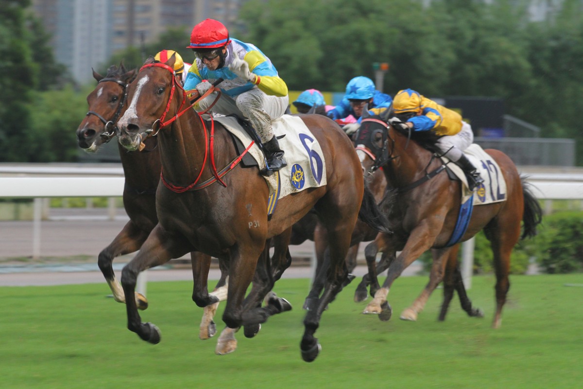
POLYGON ((164 264, 171 258, 178 258, 191 251, 192 247, 184 239, 164 233, 157 225, 142 245, 138 254, 125 265, 121 273, 121 285, 124 288, 125 307, 128 316, 128 330, 138 334, 143 340, 152 344, 160 342, 160 330, 152 323, 142 323, 134 299, 138 274, 146 269, 164 264))

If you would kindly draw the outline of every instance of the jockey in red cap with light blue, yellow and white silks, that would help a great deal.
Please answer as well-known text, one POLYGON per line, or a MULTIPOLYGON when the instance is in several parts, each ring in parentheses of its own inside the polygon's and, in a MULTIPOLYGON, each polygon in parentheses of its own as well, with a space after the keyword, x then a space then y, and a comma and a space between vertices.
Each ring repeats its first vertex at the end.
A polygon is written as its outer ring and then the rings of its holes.
MULTIPOLYGON (((206 19, 192 29, 191 48, 196 62, 190 68, 184 89, 204 94, 211 82, 223 78, 222 95, 213 106, 220 114, 236 113, 247 118, 261 138, 269 170, 286 166, 283 150, 273 133, 272 119, 282 116, 289 97, 287 85, 269 58, 255 45, 229 37, 229 31, 217 20, 206 19)), ((216 95, 199 101, 198 110, 208 108, 216 95)))

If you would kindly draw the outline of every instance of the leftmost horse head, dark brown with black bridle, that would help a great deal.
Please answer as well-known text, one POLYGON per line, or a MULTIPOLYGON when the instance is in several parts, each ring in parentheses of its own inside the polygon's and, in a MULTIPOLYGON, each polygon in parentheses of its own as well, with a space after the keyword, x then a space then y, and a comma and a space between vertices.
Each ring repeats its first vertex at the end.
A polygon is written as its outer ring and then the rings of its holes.
POLYGON ((115 122, 126 107, 128 85, 135 76, 136 69, 127 71, 122 63, 110 66, 105 77, 93 70, 97 86, 87 96, 89 111, 76 131, 80 148, 96 152, 113 138, 115 122))

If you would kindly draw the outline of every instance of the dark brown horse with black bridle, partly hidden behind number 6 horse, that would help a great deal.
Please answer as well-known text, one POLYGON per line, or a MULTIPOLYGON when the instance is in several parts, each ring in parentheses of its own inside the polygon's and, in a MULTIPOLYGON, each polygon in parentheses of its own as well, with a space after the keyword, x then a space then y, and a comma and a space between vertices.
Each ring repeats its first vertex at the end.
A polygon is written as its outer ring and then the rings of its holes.
MULTIPOLYGON (((124 66, 113 65, 105 77, 93 71, 97 86, 87 96, 89 112, 79 125, 76 134, 79 147, 87 152, 98 152, 99 148, 115 136, 115 122, 127 108, 127 89, 135 78, 136 70, 126 71, 124 66)), ((99 254, 99 268, 103 273, 114 299, 125 302, 124 291, 115 278, 112 262, 115 257, 138 251, 154 226, 158 223, 156 215, 156 188, 160 181, 160 150, 157 139, 145 140, 145 149, 128 152, 121 145, 121 164, 124 169, 124 208, 129 216, 129 222, 115 239, 99 254)), ((202 253, 191 253, 194 275, 192 300, 201 307, 208 306, 219 300, 210 296, 206 279, 210 267, 210 256, 202 253)), ((217 284, 217 288, 225 285, 226 271, 217 284)), ((147 300, 136 293, 136 302, 140 309, 146 309, 147 300)), ((216 305, 214 306, 216 309, 216 305)), ((214 323, 206 323, 201 328, 203 334, 212 336, 214 323)))

